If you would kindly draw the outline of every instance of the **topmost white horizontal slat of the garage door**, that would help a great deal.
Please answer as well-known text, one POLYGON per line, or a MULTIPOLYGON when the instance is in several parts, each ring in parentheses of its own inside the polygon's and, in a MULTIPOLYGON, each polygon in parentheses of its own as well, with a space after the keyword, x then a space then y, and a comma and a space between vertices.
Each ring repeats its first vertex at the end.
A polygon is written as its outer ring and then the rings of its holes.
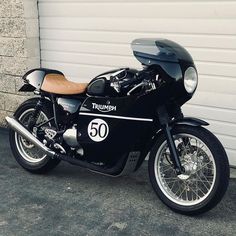
POLYGON ((233 1, 50 1, 41 16, 116 18, 232 18, 233 1), (204 8, 203 3, 204 2, 204 8), (225 4, 227 2, 227 4, 225 4), (217 3, 217 4, 215 4, 217 3), (92 7, 91 7, 92 4, 92 7), (79 5, 79 7, 78 7, 79 5), (222 10, 224 8, 224 10, 222 10))

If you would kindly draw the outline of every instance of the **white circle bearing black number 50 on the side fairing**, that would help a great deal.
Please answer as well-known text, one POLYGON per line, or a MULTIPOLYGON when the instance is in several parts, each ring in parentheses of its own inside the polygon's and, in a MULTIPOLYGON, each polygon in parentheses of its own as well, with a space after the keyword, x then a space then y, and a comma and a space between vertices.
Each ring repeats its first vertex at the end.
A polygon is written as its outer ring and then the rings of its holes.
POLYGON ((102 119, 94 119, 88 125, 88 135, 95 142, 103 141, 108 133, 108 124, 102 119))

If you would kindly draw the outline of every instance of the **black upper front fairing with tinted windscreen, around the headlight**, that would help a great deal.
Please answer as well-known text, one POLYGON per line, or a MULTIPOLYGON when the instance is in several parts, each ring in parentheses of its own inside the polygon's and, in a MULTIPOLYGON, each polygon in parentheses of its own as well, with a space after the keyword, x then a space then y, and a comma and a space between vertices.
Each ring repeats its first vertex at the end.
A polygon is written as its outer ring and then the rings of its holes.
POLYGON ((184 73, 188 67, 196 67, 185 48, 167 39, 135 39, 131 47, 134 56, 148 68, 155 68, 165 81, 162 88, 168 90, 170 102, 181 106, 191 99, 194 92, 186 91, 184 73))

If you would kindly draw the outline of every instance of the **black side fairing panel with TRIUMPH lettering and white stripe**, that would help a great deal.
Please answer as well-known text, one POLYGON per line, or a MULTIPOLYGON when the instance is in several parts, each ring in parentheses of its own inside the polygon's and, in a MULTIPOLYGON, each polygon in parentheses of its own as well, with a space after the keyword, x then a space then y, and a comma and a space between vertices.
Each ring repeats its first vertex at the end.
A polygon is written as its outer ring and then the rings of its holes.
MULTIPOLYGON (((151 94, 150 94, 151 96, 151 94)), ((148 96, 149 97, 149 96, 148 96)), ((119 158, 131 150, 144 149, 145 143, 154 132, 153 122, 129 119, 116 119, 114 117, 139 117, 151 119, 153 109, 147 106, 146 96, 124 97, 89 97, 80 107, 78 116, 78 138, 84 149, 86 159, 89 161, 103 161, 109 164, 116 163, 119 158), (116 107, 104 112, 96 104, 109 104, 116 107), (81 115, 86 113, 90 115, 81 115), (109 135, 102 142, 94 142, 88 135, 88 126, 95 118, 104 120, 109 127, 109 135)), ((154 100, 156 102, 156 100, 154 100)))

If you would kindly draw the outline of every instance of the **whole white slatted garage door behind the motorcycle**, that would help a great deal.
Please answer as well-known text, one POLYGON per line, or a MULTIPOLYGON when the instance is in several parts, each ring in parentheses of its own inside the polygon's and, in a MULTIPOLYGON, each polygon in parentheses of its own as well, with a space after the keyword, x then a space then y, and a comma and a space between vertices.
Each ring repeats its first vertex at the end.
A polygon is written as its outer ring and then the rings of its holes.
POLYGON ((200 81, 183 110, 211 123, 236 165, 236 1, 39 0, 39 15, 42 66, 75 81, 140 67, 130 49, 138 37, 185 46, 200 81))

